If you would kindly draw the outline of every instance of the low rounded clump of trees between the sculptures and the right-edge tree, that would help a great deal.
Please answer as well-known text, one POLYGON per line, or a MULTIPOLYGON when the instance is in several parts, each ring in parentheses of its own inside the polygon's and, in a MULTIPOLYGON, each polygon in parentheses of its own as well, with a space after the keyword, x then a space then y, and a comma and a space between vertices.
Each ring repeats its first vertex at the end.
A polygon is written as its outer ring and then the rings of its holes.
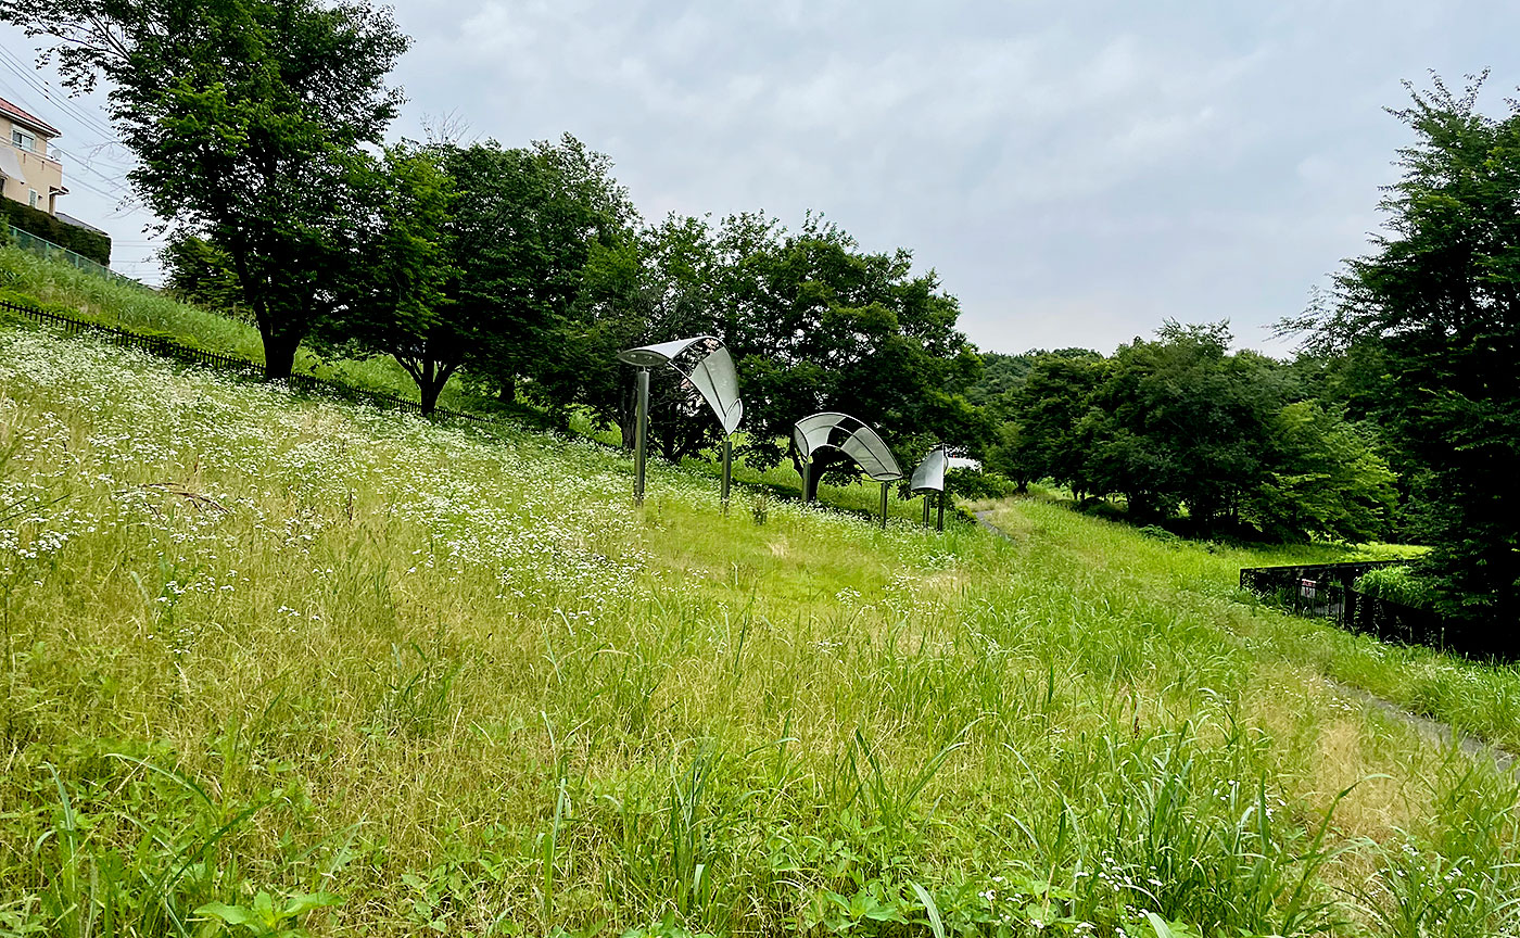
POLYGON ((1225 324, 1167 322, 1113 357, 1029 356, 991 398, 988 462, 1020 488, 1052 479, 1122 496, 1137 521, 1201 535, 1362 541, 1389 531, 1394 474, 1365 429, 1318 400, 1297 365, 1230 353, 1225 324))

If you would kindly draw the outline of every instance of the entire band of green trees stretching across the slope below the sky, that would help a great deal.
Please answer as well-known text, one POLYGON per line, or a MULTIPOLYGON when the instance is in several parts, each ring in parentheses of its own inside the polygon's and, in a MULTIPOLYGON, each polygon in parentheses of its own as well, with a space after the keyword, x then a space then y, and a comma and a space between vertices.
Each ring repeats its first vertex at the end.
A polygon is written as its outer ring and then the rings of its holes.
MULTIPOLYGON (((796 417, 845 410, 907 465, 945 441, 1020 488, 1113 497, 1143 523, 1420 537, 1446 611, 1515 611, 1520 117, 1477 114, 1476 87, 1436 82, 1401 112, 1418 143, 1383 204, 1391 234, 1294 324, 1313 337, 1297 360, 1175 322, 1108 357, 1005 356, 977 354, 906 249, 819 217, 649 222, 570 135, 383 146, 407 38, 363 0, 0 0, 0 15, 56 40, 70 85, 106 79, 131 181, 178 233, 170 287, 257 324, 269 377, 302 344, 392 356, 424 409, 461 376, 628 438, 617 350, 714 333, 754 465, 786 459, 796 417)), ((658 450, 711 445, 713 421, 679 420, 698 401, 663 377, 658 450)))

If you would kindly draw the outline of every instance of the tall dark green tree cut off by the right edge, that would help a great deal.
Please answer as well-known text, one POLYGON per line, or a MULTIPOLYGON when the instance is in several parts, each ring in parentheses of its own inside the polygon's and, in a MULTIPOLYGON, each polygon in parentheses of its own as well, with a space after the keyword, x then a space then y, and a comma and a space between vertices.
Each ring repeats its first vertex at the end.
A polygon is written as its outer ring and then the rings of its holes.
POLYGON ((1520 105, 1477 111, 1435 79, 1394 114, 1415 132, 1382 201, 1386 234, 1332 303, 1290 327, 1353 350, 1359 398, 1412 480, 1447 614, 1520 614, 1520 105))

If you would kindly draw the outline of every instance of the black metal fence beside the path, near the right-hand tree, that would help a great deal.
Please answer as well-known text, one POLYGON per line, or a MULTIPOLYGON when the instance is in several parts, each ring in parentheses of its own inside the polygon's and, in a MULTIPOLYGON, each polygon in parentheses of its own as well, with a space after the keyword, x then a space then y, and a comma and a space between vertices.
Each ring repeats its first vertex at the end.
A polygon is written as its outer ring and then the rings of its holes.
POLYGON ((1406 645, 1429 645, 1477 655, 1506 655, 1493 635, 1458 628, 1430 610, 1421 610, 1356 588, 1359 576, 1374 567, 1397 567, 1409 561, 1359 564, 1306 564, 1298 567, 1246 567, 1240 588, 1275 602, 1298 616, 1328 619, 1353 631, 1406 645))

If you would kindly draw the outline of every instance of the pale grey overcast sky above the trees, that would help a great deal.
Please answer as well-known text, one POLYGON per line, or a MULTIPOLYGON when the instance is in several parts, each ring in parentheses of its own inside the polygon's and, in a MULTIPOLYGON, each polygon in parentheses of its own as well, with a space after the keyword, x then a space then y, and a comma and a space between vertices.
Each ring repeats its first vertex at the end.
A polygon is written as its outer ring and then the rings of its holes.
MULTIPOLYGON (((982 348, 1110 353, 1164 318, 1269 325, 1379 225, 1400 82, 1520 84, 1514 3, 640 3, 400 0, 392 137, 454 114, 575 134, 646 219, 822 213, 909 248, 982 348)), ((152 219, 93 102, 58 103, 0 27, 0 94, 64 129, 64 211, 157 281, 152 219), (74 114, 79 111, 79 116, 74 114), (91 122, 93 119, 93 122, 91 122), (87 167, 88 166, 88 167, 87 167)), ((53 81, 44 74, 43 79, 53 81)))

